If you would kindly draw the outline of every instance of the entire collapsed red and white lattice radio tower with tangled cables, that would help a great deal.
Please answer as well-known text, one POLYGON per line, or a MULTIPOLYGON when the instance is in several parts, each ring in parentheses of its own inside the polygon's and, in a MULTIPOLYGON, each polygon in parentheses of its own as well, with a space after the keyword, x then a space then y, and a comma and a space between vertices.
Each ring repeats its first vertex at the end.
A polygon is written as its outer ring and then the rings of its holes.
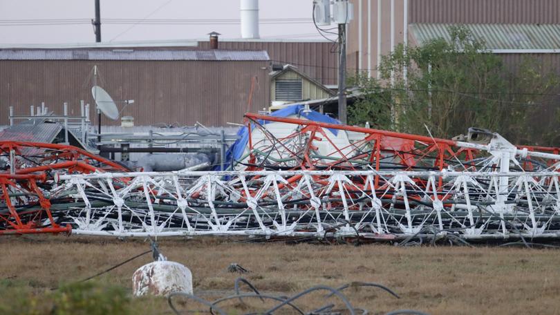
POLYGON ((0 233, 560 238, 558 149, 245 117, 229 171, 129 172, 70 146, 3 142, 0 233))

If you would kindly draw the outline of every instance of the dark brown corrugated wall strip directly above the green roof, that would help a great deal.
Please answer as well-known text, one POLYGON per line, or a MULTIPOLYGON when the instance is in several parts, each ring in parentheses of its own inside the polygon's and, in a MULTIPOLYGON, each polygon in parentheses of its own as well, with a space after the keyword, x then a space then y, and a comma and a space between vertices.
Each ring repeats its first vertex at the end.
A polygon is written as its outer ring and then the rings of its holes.
POLYGON ((409 0, 409 23, 560 23, 558 0, 409 0))

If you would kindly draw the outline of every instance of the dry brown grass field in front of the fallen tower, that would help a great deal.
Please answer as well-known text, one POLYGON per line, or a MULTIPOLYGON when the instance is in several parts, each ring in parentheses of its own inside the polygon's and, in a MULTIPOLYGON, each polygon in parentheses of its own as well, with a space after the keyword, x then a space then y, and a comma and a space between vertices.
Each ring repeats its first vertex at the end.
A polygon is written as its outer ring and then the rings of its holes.
MULTIPOLYGON (((8 292, 23 288, 40 295, 147 249, 149 242, 142 240, 2 237, 0 281, 13 288, 8 292)), ((314 285, 337 287, 366 281, 400 294, 397 299, 380 289, 344 291, 353 305, 368 309, 370 314, 393 309, 418 309, 429 314, 560 314, 557 249, 287 245, 225 238, 160 240, 160 249, 169 260, 191 269, 195 294, 208 299, 232 293, 234 279, 240 275, 227 272, 227 266, 236 262, 251 271, 243 276, 261 292, 290 295, 314 285)), ((96 281, 131 292, 133 271, 150 261, 150 254, 142 256, 96 281)), ((0 294, 0 304, 13 303, 13 295, 0 294)), ((330 301, 337 303, 336 298, 330 301)), ((324 295, 314 294, 299 303, 311 310, 326 301, 324 295)), ((171 314, 162 298, 133 299, 132 305, 138 314, 171 314)), ((248 312, 242 305, 231 305, 238 307, 237 314, 248 312)), ((194 303, 187 306, 205 309, 194 303)))

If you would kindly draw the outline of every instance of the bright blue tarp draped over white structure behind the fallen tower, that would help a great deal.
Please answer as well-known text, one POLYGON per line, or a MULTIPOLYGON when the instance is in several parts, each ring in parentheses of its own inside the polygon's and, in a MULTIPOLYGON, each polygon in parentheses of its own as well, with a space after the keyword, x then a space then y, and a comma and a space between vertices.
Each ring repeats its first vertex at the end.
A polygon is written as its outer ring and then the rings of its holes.
MULTIPOLYGON (((270 116, 272 117, 289 117, 291 115, 299 115, 300 117, 304 117, 308 120, 312 120, 314 122, 326 122, 329 124, 340 124, 340 122, 338 120, 335 120, 332 117, 328 117, 327 115, 323 115, 317 111, 311 111, 310 113, 304 113, 304 105, 301 104, 295 104, 295 105, 291 105, 288 106, 286 108, 282 108, 279 111, 275 111, 273 113, 270 114, 270 116)), ((272 122, 263 122, 261 120, 259 120, 259 124, 270 124, 272 122)), ((333 133, 333 135, 338 135, 338 131, 337 129, 328 129, 328 131, 330 131, 331 133, 333 133)), ((227 149, 226 153, 225 153, 225 161, 224 161, 224 167, 225 169, 228 169, 230 167, 230 165, 232 164, 233 161, 239 160, 239 158, 241 158, 241 156, 243 155, 243 151, 245 151, 245 148, 247 148, 247 142, 249 142, 249 132, 248 132, 248 128, 246 126, 243 126, 241 128, 239 128, 239 131, 237 131, 237 135, 239 136, 239 139, 236 140, 236 142, 234 142, 234 144, 232 146, 230 146, 230 149, 227 149)), ((219 171, 220 170, 220 165, 215 166, 214 167, 214 171, 219 171)))

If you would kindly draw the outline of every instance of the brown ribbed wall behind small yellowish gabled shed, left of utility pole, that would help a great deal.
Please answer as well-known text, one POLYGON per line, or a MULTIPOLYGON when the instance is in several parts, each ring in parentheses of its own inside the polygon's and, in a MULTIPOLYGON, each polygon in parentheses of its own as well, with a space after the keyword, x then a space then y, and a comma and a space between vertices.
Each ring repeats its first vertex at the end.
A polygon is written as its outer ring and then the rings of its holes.
MULTIPOLYGON (((266 50, 275 63, 292 64, 322 84, 337 84, 337 53, 333 44, 321 41, 219 41, 219 49, 266 50)), ((209 49, 209 41, 198 42, 209 49)))

